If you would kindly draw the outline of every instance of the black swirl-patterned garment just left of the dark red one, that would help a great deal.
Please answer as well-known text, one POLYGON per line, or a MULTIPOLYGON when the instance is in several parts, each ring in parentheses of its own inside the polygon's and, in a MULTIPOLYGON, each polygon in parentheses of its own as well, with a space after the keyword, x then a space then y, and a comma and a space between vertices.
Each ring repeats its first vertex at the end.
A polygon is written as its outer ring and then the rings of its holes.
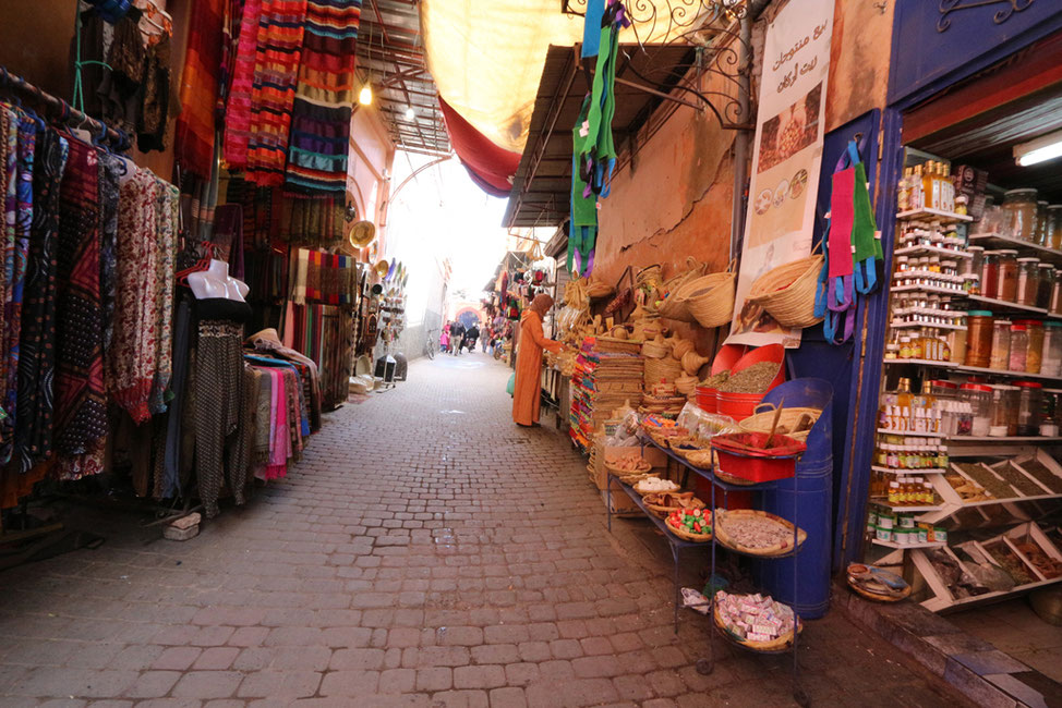
POLYGON ((34 215, 23 291, 15 468, 25 474, 51 454, 56 375, 56 237, 59 195, 70 145, 52 130, 37 138, 34 215))

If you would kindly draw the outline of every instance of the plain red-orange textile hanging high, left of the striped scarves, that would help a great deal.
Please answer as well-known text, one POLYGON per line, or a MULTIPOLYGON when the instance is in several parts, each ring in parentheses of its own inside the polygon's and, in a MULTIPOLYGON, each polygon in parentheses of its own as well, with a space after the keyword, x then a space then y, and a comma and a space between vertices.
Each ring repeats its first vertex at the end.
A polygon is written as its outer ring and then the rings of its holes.
POLYGON ((214 161, 225 3, 226 0, 192 0, 189 8, 174 152, 186 171, 201 178, 210 175, 214 161))

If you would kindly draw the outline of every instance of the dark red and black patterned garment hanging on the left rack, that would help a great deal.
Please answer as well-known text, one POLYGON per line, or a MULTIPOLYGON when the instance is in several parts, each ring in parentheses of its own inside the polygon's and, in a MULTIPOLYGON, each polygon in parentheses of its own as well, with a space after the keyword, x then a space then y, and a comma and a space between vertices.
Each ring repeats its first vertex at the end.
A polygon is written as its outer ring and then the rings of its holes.
POLYGON ((107 435, 98 175, 96 149, 71 139, 57 249, 55 425, 56 449, 64 455, 96 451, 107 435))

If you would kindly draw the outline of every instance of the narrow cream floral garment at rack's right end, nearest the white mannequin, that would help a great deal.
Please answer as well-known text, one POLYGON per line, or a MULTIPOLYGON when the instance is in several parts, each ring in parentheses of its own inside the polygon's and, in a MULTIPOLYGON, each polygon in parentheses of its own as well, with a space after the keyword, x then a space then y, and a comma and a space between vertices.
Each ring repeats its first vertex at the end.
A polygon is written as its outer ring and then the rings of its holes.
POLYGON ((177 187, 156 180, 157 260, 155 280, 155 376, 149 408, 166 410, 173 374, 173 279, 177 263, 177 209, 181 195, 177 187))

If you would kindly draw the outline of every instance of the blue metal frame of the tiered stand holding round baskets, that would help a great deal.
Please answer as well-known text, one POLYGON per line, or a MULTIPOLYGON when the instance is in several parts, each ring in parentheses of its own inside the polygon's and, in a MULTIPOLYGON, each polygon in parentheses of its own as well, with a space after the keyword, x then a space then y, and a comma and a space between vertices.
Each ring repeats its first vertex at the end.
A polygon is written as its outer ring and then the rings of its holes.
MULTIPOLYGON (((711 486, 712 486, 711 504, 709 506, 709 509, 712 512, 712 540, 711 541, 705 541, 705 542, 685 541, 685 540, 678 538, 677 536, 675 536, 674 534, 672 534, 669 530, 667 530, 667 524, 666 524, 666 522, 664 520, 657 518, 653 513, 651 513, 648 509, 645 509, 644 502, 641 499, 641 495, 639 495, 638 492, 636 492, 632 487, 629 487, 628 485, 625 485, 625 484, 620 483, 618 480, 618 478, 616 477, 616 475, 614 475, 612 473, 612 471, 608 471, 608 477, 607 477, 608 485, 605 487, 605 490, 606 490, 606 492, 605 492, 606 493, 606 502, 607 502, 605 504, 605 511, 606 511, 606 513, 608 515, 608 532, 612 533, 612 516, 613 516, 613 512, 612 512, 612 481, 613 481, 613 479, 616 479, 616 484, 618 484, 620 486, 620 488, 623 488, 623 490, 625 492, 627 492, 627 495, 638 505, 638 508, 641 509, 645 513, 645 515, 649 516, 650 520, 661 529, 661 532, 664 534, 664 538, 667 539, 667 542, 671 546, 672 557, 674 558, 674 561, 675 561, 675 574, 674 574, 674 578, 675 578, 675 632, 677 633, 678 632, 678 608, 679 608, 679 603, 681 602, 681 589, 678 586, 678 552, 679 552, 679 550, 683 550, 685 548, 689 548, 690 546, 711 547, 711 550, 712 550, 712 563, 711 563, 711 575, 709 576, 709 578, 710 578, 709 579, 709 583, 711 583, 712 579, 715 578, 715 572, 716 572, 716 546, 720 545, 719 537, 717 537, 717 535, 715 533, 716 532, 716 528, 715 528, 715 522, 716 522, 715 512, 716 512, 716 506, 717 506, 716 505, 716 499, 715 499, 715 495, 716 495, 715 490, 716 490, 716 488, 723 490, 723 506, 725 508, 726 506, 726 502, 727 502, 727 496, 728 496, 729 492, 732 492, 732 491, 765 491, 768 489, 774 488, 776 486, 776 481, 764 481, 764 483, 750 484, 750 485, 735 485, 735 484, 732 484, 732 483, 724 481, 724 480, 720 479, 717 476, 715 476, 715 474, 713 473, 712 468, 710 468, 710 467, 698 467, 696 465, 692 465, 687 460, 685 460, 684 457, 675 454, 675 452, 672 451, 672 450, 669 450, 668 448, 664 448, 663 445, 657 444, 655 441, 653 441, 651 439, 650 440, 642 439, 642 445, 641 445, 642 447, 642 450, 644 450, 644 448, 645 448, 647 444, 649 444, 649 445, 651 445, 653 448, 656 448, 657 450, 662 451, 665 455, 667 455, 667 457, 669 460, 675 461, 676 463, 678 463, 678 465, 681 468, 684 468, 684 469, 687 471, 686 474, 683 477, 683 486, 684 487, 686 486, 686 481, 688 480, 688 474, 690 472, 692 472, 695 475, 698 475, 699 477, 708 480, 709 483, 711 483, 711 486)), ((729 453, 729 454, 733 454, 733 453, 729 453)), ((791 457, 799 457, 799 455, 789 455, 789 456, 791 457)), ((668 464, 668 467, 669 466, 671 465, 668 464)), ((793 549, 789 550, 789 551, 787 551, 787 552, 785 552, 785 553, 782 553, 782 554, 779 554, 779 556, 758 556, 758 554, 752 554, 752 553, 746 553, 746 552, 743 552, 740 550, 736 550, 736 549, 733 549, 733 548, 729 548, 729 547, 724 547, 724 549, 727 550, 727 551, 729 551, 729 552, 732 552, 732 553, 737 553, 739 556, 748 556, 750 558, 756 558, 756 559, 761 560, 761 561, 764 561, 764 560, 777 560, 777 559, 782 559, 782 558, 789 558, 789 557, 795 556, 796 553, 798 553, 800 551, 800 548, 801 548, 800 544, 798 542, 799 541, 798 534, 800 532, 800 523, 799 523, 799 505, 797 504, 797 495, 794 495, 793 496, 793 520, 792 520, 792 523, 793 523, 793 549)), ((797 598, 798 578, 799 578, 799 573, 796 573, 796 572, 793 573, 793 598, 794 598, 794 600, 796 600, 796 598, 797 598)), ((691 607, 700 607, 700 606, 691 606, 691 607)), ((710 620, 711 620, 712 625, 713 625, 714 628, 712 630, 712 632, 709 633, 708 658, 707 659, 701 659, 701 660, 699 660, 697 662, 697 671, 699 673, 702 673, 702 674, 709 674, 709 673, 711 673, 715 669, 715 643, 714 643, 714 637, 715 637, 716 632, 720 633, 720 634, 724 634, 724 630, 720 628, 717 626, 716 622, 715 622, 715 617, 714 617, 715 615, 715 594, 714 593, 712 593, 711 596, 708 599, 708 608, 709 608, 709 618, 710 618, 710 620)), ((793 652, 793 698, 799 705, 807 706, 807 705, 809 705, 808 696, 804 692, 804 689, 800 688, 799 681, 798 681, 799 664, 797 663, 797 644, 798 644, 799 638, 800 638, 800 626, 801 626, 801 623, 800 623, 800 615, 797 613, 797 610, 796 610, 796 607, 795 607, 795 602, 794 602, 794 607, 793 607, 793 618, 794 618, 793 644, 789 647, 785 647, 785 648, 781 648, 781 649, 771 649, 769 651, 761 651, 761 650, 756 649, 755 647, 750 647, 750 646, 745 645, 745 644, 741 644, 739 642, 729 640, 731 639, 729 636, 726 636, 725 638, 728 639, 731 644, 734 644, 735 646, 739 646, 743 649, 745 649, 746 651, 752 651, 753 654, 784 654, 786 651, 792 651, 793 652)))

